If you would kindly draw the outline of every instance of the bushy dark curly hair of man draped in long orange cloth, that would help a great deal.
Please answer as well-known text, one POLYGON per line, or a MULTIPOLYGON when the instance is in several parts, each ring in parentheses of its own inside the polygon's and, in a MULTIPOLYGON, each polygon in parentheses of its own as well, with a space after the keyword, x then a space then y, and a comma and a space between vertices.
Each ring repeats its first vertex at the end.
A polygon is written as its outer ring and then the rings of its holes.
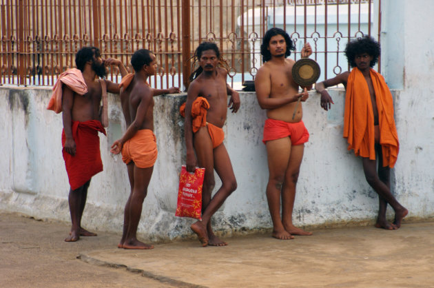
POLYGON ((373 56, 373 59, 369 65, 371 68, 378 62, 378 57, 380 56, 380 43, 375 41, 372 37, 365 36, 347 43, 345 48, 345 56, 351 67, 355 67, 355 56, 366 53, 369 56, 373 56))

